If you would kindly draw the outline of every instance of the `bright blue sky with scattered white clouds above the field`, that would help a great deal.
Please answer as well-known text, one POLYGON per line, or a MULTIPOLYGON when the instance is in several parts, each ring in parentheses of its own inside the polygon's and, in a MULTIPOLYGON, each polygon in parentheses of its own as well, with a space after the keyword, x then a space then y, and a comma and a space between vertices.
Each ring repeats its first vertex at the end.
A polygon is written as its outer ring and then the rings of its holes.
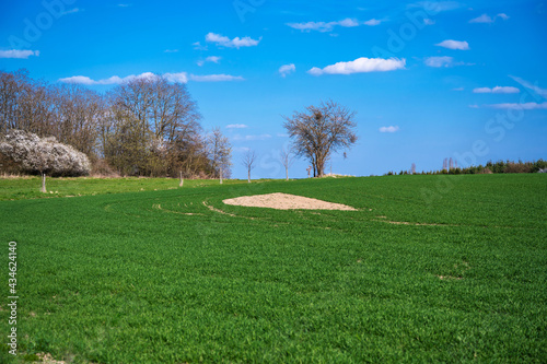
MULTIPOLYGON (((333 99, 357 176, 547 158, 547 1, 0 0, 0 69, 105 92, 147 72, 187 82, 206 129, 281 178, 282 115, 333 99)), ((292 177, 304 177, 296 160, 292 177)), ((330 164, 327 172, 330 171, 330 164)))

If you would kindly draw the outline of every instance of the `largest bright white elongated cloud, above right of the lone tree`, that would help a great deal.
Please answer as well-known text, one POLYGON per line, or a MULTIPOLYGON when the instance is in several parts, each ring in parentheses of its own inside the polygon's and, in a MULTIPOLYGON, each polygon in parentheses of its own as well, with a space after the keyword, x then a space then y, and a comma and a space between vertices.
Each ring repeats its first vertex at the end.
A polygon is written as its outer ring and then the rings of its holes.
POLYGON ((405 59, 397 58, 365 58, 361 57, 349 62, 338 62, 327 66, 323 69, 314 67, 307 73, 313 75, 322 74, 351 74, 351 73, 365 73, 365 72, 385 72, 404 69, 406 64, 405 59))

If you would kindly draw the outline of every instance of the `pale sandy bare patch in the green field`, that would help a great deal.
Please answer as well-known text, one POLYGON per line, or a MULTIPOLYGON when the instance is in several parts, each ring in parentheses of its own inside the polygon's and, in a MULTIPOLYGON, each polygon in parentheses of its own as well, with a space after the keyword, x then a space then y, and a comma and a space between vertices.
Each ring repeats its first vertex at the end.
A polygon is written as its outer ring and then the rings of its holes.
POLYGON ((222 201, 225 204, 244 206, 249 208, 269 208, 278 210, 346 210, 357 211, 352 207, 311 199, 307 197, 288 195, 288 193, 268 193, 243 196, 235 199, 222 201))

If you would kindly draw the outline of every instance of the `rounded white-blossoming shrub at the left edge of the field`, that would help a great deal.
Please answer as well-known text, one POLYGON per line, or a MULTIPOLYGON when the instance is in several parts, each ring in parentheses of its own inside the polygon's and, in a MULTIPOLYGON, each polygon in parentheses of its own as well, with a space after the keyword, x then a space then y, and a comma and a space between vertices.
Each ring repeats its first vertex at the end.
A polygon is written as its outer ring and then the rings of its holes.
POLYGON ((0 154, 31 174, 82 176, 91 169, 88 156, 74 148, 23 130, 11 130, 2 138, 0 154))

